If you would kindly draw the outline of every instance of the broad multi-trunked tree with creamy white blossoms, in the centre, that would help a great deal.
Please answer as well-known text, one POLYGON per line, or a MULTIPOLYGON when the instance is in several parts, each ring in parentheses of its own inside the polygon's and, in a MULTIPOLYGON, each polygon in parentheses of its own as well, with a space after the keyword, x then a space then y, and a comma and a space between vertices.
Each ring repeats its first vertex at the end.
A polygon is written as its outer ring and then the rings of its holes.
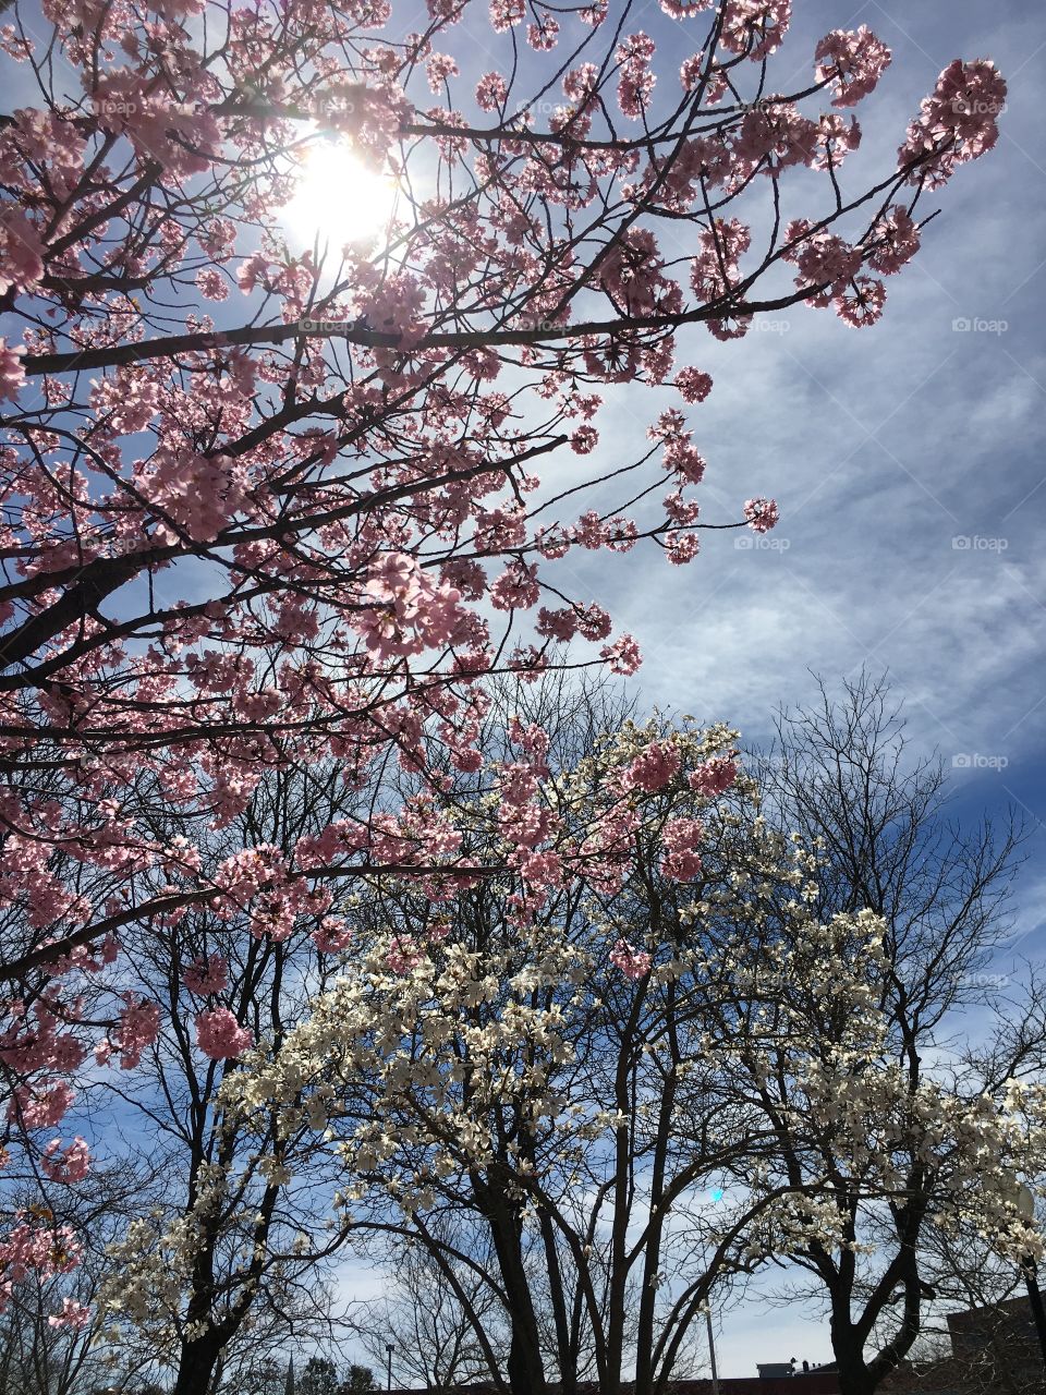
MULTIPOLYGON (((537 728, 516 735, 543 763, 537 728)), ((526 921, 510 873, 446 910, 393 880, 310 1018, 230 1077, 230 1109, 336 1143, 344 1223, 424 1246, 452 1286, 471 1264, 510 1328, 499 1389, 576 1391, 590 1357, 601 1391, 635 1368, 661 1395, 713 1285, 777 1260, 849 1296, 880 1265, 841 1363, 869 1395, 918 1335, 920 1228, 1042 1244, 1010 1179, 1042 1172, 1046 1095, 898 1064, 884 921, 813 915, 819 858, 759 813, 731 737, 629 724, 545 770, 558 837, 583 829, 598 864, 526 921), (492 1265, 453 1239, 462 1218, 492 1265)), ((520 778, 499 763, 459 802, 488 864, 524 817, 520 778)))

